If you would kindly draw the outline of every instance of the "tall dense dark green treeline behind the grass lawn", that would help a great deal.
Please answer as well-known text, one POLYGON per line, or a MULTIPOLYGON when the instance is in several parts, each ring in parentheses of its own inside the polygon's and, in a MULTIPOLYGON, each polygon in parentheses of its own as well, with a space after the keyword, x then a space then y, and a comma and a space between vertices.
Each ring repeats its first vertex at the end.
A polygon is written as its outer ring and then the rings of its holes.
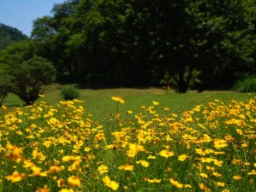
POLYGON ((57 79, 88 86, 229 89, 255 73, 255 15, 253 0, 69 0, 34 21, 27 44, 57 79))

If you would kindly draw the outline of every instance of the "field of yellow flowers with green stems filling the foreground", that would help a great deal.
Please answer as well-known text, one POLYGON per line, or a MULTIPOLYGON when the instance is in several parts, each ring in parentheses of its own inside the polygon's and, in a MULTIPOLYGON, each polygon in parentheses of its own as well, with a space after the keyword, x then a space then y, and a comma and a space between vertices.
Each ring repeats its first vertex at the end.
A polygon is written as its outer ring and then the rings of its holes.
POLYGON ((255 98, 182 115, 112 100, 104 119, 80 100, 3 107, 0 191, 256 191, 255 98))

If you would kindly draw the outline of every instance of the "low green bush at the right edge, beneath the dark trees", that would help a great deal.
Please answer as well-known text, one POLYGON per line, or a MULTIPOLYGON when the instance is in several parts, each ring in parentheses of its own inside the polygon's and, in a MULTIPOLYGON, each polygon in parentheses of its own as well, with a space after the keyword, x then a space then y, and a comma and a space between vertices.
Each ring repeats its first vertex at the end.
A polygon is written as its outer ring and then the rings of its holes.
POLYGON ((234 85, 234 90, 239 92, 256 92, 256 78, 253 76, 248 76, 244 79, 239 80, 234 85))

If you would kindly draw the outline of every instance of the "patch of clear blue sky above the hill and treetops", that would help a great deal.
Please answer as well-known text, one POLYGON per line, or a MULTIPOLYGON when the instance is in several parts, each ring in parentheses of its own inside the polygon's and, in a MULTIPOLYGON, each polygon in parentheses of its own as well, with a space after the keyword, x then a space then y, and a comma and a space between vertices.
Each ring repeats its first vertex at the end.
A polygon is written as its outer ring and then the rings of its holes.
POLYGON ((65 0, 0 0, 0 23, 30 36, 33 20, 51 15, 55 3, 65 0))

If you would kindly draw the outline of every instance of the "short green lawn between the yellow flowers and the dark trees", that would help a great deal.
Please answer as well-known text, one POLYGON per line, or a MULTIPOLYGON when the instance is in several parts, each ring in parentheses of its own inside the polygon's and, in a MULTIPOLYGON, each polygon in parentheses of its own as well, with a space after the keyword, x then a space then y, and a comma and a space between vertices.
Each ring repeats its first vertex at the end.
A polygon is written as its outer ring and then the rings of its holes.
MULTIPOLYGON (((35 103, 41 101, 51 105, 56 105, 63 101, 61 96, 60 84, 48 86, 45 91, 45 97, 39 98, 35 103)), ((235 91, 204 91, 197 93, 189 91, 186 94, 177 94, 174 90, 164 90, 161 88, 115 88, 115 89, 80 89, 79 99, 84 101, 84 106, 88 113, 91 113, 96 119, 103 118, 116 112, 116 103, 111 102, 111 96, 122 96, 125 104, 119 108, 121 113, 133 110, 134 113, 140 111, 141 106, 151 105, 152 102, 159 102, 160 105, 170 108, 172 113, 183 113, 199 104, 206 104, 216 99, 222 102, 247 101, 256 96, 256 93, 239 93, 235 91)), ((24 105, 24 102, 18 96, 9 94, 3 102, 4 106, 10 109, 24 105)))

